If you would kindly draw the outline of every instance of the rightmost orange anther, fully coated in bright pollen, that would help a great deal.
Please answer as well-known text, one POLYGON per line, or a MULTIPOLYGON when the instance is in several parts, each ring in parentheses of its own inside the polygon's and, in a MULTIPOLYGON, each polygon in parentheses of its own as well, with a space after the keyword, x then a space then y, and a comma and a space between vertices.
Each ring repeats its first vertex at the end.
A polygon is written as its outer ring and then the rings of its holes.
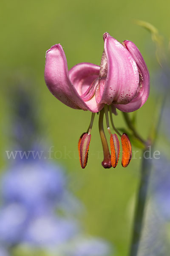
POLYGON ((127 134, 122 134, 122 166, 127 167, 132 158, 132 146, 127 134))

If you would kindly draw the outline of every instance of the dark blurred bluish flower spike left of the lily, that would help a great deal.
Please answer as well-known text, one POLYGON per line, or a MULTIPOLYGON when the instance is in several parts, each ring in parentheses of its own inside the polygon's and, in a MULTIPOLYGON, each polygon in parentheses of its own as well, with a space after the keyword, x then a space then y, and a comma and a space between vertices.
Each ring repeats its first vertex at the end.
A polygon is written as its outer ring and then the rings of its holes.
POLYGON ((15 144, 22 150, 30 150, 40 136, 36 102, 36 93, 32 93, 26 83, 10 87, 8 104, 12 111, 11 134, 15 144))

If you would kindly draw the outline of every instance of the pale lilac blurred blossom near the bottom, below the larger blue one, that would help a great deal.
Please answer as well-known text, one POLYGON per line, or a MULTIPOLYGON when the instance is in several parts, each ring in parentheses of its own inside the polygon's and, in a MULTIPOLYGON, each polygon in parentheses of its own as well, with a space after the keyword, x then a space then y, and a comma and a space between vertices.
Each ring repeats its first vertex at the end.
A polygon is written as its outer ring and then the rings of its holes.
POLYGON ((74 237, 78 230, 74 220, 42 215, 31 220, 23 241, 39 247, 58 246, 74 237))

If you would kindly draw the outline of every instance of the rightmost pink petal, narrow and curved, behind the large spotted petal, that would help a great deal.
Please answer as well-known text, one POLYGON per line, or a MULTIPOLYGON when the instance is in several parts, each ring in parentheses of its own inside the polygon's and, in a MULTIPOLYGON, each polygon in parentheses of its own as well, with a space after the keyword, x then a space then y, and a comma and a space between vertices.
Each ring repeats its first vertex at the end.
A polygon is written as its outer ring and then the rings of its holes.
POLYGON ((115 105, 115 107, 123 112, 132 112, 141 108, 147 101, 150 91, 150 75, 142 54, 136 45, 131 41, 124 41, 123 44, 136 61, 140 73, 140 82, 136 95, 132 101, 127 105, 115 105))

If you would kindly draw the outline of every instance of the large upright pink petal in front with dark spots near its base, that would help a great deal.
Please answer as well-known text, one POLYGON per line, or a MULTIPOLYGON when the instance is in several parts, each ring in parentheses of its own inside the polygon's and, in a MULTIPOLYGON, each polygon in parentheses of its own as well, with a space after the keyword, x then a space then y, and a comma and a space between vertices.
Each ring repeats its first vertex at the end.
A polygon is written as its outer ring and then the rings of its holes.
POLYGON ((103 35, 108 72, 98 103, 127 104, 139 86, 139 71, 130 52, 108 33, 103 35))

